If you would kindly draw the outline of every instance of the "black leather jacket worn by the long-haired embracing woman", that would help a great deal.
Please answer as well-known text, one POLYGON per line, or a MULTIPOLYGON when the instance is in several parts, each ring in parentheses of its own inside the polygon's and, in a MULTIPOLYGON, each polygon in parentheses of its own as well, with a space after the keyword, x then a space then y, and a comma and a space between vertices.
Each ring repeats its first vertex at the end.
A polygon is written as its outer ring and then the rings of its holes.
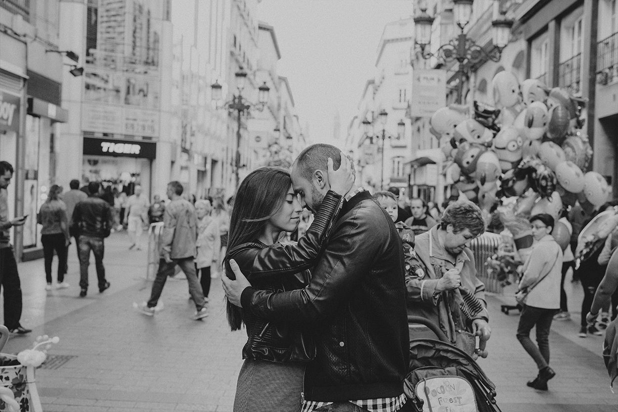
MULTIPOLYGON (((341 196, 329 191, 305 236, 298 244, 266 246, 262 242, 240 244, 229 252, 252 286, 260 290, 282 292, 302 289, 311 280, 309 268, 316 264, 332 220, 341 210, 341 196)), ((229 270, 229 259, 226 268, 229 270)), ((271 362, 310 361, 315 358, 315 343, 307 328, 261 319, 242 311, 248 340, 243 359, 271 362)))

